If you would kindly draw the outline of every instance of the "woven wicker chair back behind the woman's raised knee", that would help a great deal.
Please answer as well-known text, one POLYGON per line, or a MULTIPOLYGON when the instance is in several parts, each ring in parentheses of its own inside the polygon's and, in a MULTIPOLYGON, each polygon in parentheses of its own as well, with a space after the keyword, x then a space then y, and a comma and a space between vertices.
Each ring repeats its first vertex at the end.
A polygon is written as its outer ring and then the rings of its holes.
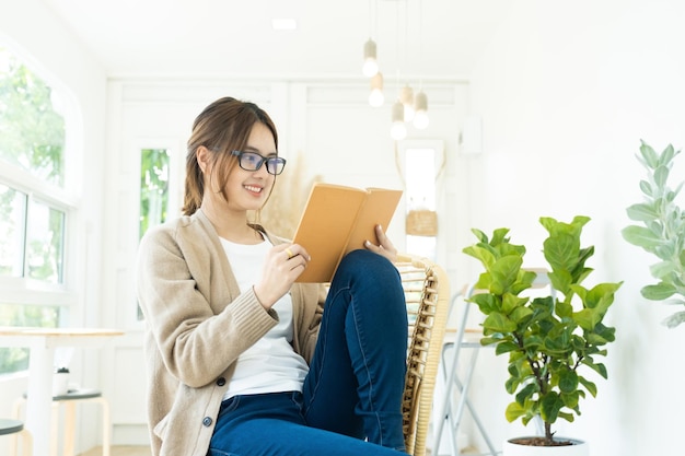
POLYGON ((409 340, 403 397, 408 454, 426 455, 433 390, 448 319, 450 283, 444 270, 426 258, 400 255, 396 262, 407 301, 409 340))

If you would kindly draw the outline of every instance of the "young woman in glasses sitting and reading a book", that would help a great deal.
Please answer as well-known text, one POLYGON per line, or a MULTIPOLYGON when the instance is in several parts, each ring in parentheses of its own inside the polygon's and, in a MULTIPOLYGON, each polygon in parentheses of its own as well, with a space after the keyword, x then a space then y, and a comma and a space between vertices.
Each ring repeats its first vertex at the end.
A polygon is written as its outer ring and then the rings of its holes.
POLYGON ((328 293, 294 283, 307 252, 248 220, 285 165, 255 104, 224 97, 195 119, 184 215, 138 256, 154 456, 404 451, 396 250, 379 226, 328 293))

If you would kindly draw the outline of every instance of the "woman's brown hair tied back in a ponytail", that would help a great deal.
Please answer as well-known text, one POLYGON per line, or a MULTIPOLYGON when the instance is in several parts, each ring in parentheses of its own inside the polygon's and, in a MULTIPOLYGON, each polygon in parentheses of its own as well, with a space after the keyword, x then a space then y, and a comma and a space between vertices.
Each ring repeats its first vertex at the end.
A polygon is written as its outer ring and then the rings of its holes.
POLYGON ((212 153, 212 173, 216 174, 221 195, 225 199, 229 174, 237 164, 237 157, 231 155, 231 152, 240 151, 247 144, 252 127, 257 122, 264 124, 271 131, 278 150, 278 133, 274 121, 254 103, 227 96, 207 106, 195 118, 186 155, 185 196, 182 209, 185 215, 191 215, 197 211, 205 194, 202 171, 197 163, 197 148, 204 145, 212 153))

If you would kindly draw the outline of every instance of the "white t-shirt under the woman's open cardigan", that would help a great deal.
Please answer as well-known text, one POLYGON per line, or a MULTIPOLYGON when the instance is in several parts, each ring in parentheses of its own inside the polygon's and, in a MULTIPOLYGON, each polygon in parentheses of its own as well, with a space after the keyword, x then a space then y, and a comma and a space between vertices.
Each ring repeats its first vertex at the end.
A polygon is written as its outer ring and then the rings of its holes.
MULTIPOLYGON (((255 245, 235 244, 224 238, 221 244, 241 292, 249 290, 262 277, 264 259, 271 244, 267 241, 255 245)), ((278 324, 239 356, 224 400, 236 395, 302 390, 309 366, 291 346, 290 293, 272 308, 278 314, 278 324)))

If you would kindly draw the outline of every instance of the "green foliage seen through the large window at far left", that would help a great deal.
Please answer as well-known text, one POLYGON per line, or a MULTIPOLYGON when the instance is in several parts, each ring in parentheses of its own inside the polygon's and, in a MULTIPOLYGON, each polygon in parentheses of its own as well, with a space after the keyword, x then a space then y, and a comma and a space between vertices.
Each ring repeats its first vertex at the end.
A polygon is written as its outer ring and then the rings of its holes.
MULTIPOLYGON (((22 169, 63 187, 66 126, 54 96, 45 81, 0 46, 0 166, 8 175, 22 169)), ((66 212, 39 201, 45 189, 33 190, 0 180, 0 276, 61 283, 66 212)), ((60 320, 59 306, 9 302, 2 293, 0 300, 0 326, 56 327, 60 320)), ((0 373, 27 365, 26 349, 0 349, 0 373)))

